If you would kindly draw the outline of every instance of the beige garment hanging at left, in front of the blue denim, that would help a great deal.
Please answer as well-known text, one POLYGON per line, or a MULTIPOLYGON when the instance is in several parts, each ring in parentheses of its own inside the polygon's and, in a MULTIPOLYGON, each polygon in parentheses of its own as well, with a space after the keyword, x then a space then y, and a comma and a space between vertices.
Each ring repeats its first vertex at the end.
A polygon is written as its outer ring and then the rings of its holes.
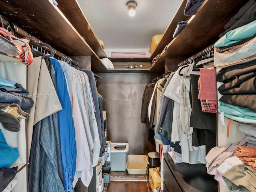
POLYGON ((33 126, 47 116, 62 110, 60 100, 56 93, 56 89, 49 74, 45 60, 42 59, 41 56, 38 56, 38 53, 36 53, 33 62, 34 65, 30 65, 28 68, 28 91, 30 92, 32 100, 34 101, 34 106, 30 109, 30 118, 28 119, 29 153, 31 148, 33 126))

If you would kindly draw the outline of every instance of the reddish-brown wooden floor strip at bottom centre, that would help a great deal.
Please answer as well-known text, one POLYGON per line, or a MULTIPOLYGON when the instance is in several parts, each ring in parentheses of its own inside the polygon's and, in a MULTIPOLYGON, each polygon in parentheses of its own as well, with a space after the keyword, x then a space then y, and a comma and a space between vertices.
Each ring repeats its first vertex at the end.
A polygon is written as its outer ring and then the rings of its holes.
POLYGON ((148 192, 146 181, 111 181, 106 192, 148 192))

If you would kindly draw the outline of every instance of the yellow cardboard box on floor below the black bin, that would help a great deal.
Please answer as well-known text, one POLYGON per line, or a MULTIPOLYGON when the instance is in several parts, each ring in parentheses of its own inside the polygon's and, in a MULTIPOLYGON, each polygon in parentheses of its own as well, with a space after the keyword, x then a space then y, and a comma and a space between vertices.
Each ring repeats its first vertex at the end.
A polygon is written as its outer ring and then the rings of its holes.
POLYGON ((148 188, 150 192, 161 192, 161 177, 156 168, 149 169, 148 188))

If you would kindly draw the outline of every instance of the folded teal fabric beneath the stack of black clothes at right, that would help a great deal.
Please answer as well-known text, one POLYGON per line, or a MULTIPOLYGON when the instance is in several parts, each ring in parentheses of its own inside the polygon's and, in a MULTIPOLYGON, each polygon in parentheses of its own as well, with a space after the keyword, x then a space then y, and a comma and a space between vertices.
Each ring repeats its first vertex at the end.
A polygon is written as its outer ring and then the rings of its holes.
POLYGON ((234 106, 219 101, 218 112, 224 112, 224 116, 242 123, 256 124, 256 111, 234 106))

